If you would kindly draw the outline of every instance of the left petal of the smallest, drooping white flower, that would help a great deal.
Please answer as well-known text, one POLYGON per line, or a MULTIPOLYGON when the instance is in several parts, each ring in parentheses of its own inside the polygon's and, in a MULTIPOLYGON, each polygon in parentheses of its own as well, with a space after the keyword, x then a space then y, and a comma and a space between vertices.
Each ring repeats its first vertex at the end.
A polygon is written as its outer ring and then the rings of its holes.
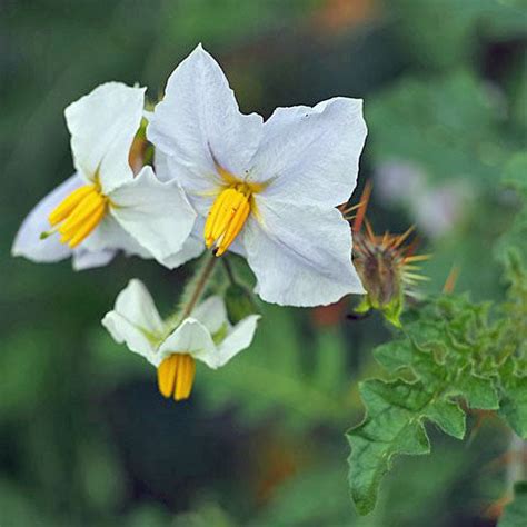
POLYGON ((113 310, 106 314, 102 325, 117 342, 126 342, 131 351, 153 364, 153 352, 165 327, 141 281, 130 280, 117 297, 113 310))

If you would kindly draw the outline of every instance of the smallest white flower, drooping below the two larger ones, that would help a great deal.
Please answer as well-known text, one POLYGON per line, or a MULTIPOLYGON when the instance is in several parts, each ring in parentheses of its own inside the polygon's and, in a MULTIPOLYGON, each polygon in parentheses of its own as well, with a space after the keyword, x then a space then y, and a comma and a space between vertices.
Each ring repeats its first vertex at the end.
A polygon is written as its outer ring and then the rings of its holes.
POLYGON ((117 342, 126 342, 157 368, 159 390, 165 397, 181 400, 192 389, 196 360, 212 369, 226 365, 250 346, 259 318, 250 315, 232 327, 223 300, 213 296, 173 329, 159 316, 145 285, 132 279, 102 325, 117 342))

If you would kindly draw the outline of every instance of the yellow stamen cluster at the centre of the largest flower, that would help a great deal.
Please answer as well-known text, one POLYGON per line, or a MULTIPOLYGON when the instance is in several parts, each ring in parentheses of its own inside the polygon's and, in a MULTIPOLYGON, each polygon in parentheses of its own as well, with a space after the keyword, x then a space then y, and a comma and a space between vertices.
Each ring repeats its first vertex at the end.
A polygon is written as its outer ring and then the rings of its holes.
POLYGON ((253 189, 247 183, 235 183, 222 190, 205 223, 205 243, 216 243, 216 256, 221 256, 240 233, 251 211, 253 189))

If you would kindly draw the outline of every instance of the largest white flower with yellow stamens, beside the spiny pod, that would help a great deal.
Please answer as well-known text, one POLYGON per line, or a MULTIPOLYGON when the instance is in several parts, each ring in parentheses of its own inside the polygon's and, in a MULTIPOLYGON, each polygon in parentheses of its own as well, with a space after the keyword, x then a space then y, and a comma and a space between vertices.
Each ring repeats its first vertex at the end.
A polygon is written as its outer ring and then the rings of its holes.
POLYGON ((336 209, 356 185, 361 100, 277 108, 264 122, 240 113, 220 67, 198 46, 170 76, 147 137, 207 218, 207 246, 246 255, 264 300, 315 306, 365 292, 336 209))

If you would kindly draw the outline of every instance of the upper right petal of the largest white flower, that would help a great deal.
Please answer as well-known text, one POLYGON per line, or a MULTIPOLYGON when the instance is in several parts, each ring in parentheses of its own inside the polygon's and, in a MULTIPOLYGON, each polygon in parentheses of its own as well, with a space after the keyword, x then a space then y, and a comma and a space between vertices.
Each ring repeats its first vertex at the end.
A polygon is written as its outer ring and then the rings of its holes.
POLYGON ((271 180, 270 197, 336 207, 355 189, 366 132, 360 99, 277 108, 264 125, 250 178, 271 180))

